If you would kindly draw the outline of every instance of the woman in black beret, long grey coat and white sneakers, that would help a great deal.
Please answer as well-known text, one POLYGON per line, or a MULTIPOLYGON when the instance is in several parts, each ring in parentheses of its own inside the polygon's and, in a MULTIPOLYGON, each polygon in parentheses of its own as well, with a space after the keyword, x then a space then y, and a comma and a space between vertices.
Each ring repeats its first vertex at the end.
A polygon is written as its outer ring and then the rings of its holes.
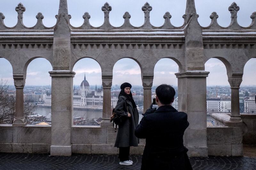
POLYGON ((119 148, 120 165, 132 165, 129 159, 130 146, 138 146, 139 139, 134 135, 139 123, 139 112, 132 98, 130 83, 123 83, 118 96, 115 112, 122 117, 118 125, 115 147, 119 148))

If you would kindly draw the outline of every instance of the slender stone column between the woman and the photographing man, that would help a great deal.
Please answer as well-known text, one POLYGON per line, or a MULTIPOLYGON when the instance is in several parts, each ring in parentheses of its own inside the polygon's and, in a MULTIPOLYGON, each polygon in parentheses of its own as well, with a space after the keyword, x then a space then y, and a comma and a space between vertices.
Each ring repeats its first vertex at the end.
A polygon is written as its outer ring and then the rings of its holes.
POLYGON ((143 74, 142 75, 142 86, 143 86, 143 112, 145 113, 150 104, 151 100, 151 89, 153 84, 154 74, 143 74))

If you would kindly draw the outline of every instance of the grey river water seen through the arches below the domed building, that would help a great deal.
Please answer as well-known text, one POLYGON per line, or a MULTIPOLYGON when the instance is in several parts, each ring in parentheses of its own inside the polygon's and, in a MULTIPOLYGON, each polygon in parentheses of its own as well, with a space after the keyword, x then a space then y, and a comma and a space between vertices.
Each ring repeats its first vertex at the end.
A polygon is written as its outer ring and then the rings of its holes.
MULTIPOLYGON (((49 113, 51 113, 51 107, 35 107, 35 110, 33 114, 40 114, 42 116, 47 116, 49 113)), ((83 117, 86 119, 98 119, 102 118, 102 111, 99 110, 73 110, 73 118, 74 117, 83 117)), ((142 115, 139 114, 140 120, 142 118, 142 115)))

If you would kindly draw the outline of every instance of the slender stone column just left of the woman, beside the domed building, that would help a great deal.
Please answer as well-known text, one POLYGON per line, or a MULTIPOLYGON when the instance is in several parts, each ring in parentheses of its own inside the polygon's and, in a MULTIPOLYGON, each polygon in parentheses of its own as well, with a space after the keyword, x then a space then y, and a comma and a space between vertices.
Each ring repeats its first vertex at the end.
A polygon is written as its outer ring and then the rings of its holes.
POLYGON ((112 86, 113 74, 102 73, 102 88, 103 88, 103 113, 101 127, 113 127, 110 123, 111 111, 111 86, 112 86))

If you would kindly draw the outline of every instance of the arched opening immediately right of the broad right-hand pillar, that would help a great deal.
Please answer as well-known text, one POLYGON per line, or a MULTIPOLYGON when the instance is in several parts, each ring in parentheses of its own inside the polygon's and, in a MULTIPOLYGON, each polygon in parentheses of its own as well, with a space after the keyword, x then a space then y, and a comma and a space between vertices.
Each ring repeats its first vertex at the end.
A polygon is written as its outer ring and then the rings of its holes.
POLYGON ((212 113, 227 113, 231 111, 231 89, 228 83, 226 66, 217 58, 211 58, 205 63, 206 77, 206 113, 207 126, 215 125, 212 113))

